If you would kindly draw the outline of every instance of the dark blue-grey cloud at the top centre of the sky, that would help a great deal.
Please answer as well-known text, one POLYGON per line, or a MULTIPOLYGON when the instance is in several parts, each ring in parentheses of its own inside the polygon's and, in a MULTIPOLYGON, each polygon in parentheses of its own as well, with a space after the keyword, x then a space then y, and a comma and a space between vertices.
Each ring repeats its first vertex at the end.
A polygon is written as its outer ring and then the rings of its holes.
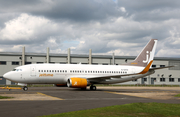
POLYGON ((107 17, 120 16, 116 4, 112 1, 96 2, 95 0, 73 0, 55 1, 50 10, 32 12, 33 14, 43 14, 53 19, 68 19, 75 21, 104 20, 107 17))

